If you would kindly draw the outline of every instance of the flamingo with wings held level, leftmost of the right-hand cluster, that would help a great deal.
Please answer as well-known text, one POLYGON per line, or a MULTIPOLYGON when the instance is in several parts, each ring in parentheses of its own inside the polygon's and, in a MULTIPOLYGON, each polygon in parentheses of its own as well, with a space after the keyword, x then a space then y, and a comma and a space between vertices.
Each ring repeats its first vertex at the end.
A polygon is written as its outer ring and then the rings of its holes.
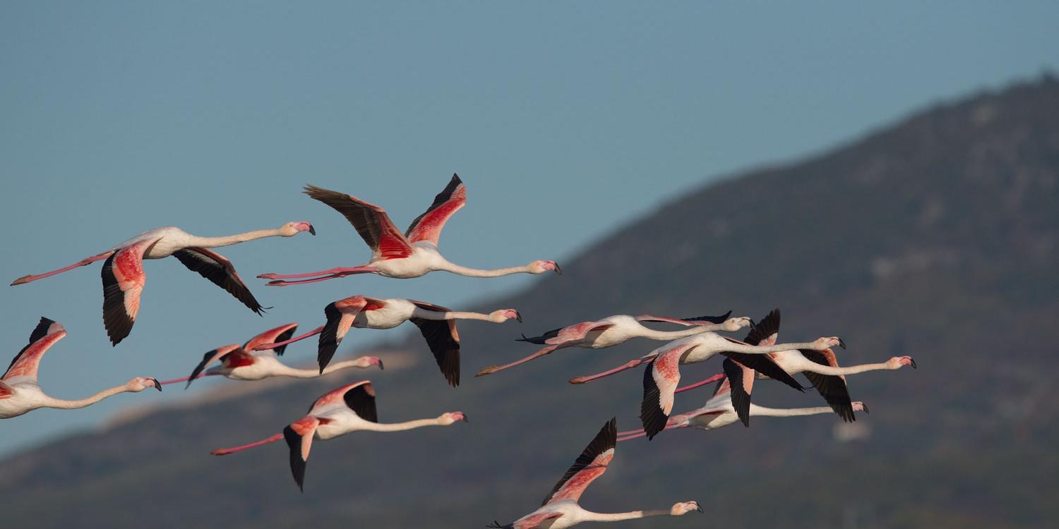
POLYGON ((537 345, 546 345, 546 347, 509 364, 486 367, 485 369, 478 371, 475 377, 484 377, 486 375, 507 369, 508 367, 515 367, 519 364, 524 364, 531 360, 545 354, 551 354, 553 351, 566 349, 568 347, 604 349, 624 344, 634 338, 669 341, 714 330, 737 331, 751 324, 749 317, 733 317, 725 321, 730 314, 732 314, 731 310, 728 311, 728 314, 722 316, 700 316, 684 320, 652 316, 650 314, 643 314, 639 316, 618 314, 597 320, 595 322, 581 322, 579 324, 568 325, 567 327, 550 330, 540 336, 526 338, 525 334, 523 334, 521 340, 516 341, 530 342, 531 344, 537 345), (665 322, 683 325, 688 327, 688 329, 679 331, 660 331, 646 327, 641 322, 665 322))

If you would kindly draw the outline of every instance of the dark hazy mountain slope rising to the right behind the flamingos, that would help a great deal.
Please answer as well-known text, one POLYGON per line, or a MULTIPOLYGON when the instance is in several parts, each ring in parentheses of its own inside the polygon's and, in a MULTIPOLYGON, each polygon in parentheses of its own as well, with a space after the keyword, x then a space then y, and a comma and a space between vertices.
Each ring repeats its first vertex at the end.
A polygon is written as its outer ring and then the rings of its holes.
MULTIPOLYGON (((854 398, 872 409, 854 427, 832 415, 757 418, 751 428, 623 442, 582 498, 587 508, 698 499, 705 516, 623 525, 675 529, 1013 528, 1059 518, 1051 382, 1059 375, 1059 81, 1051 76, 690 190, 562 264, 564 275, 479 307, 516 307, 521 326, 461 324, 456 389, 414 332, 381 352, 406 360, 402 368, 221 382, 180 406, 142 411, 0 462, 5 525, 511 521, 539 505, 611 416, 620 430, 639 423, 639 369, 585 385, 567 379, 659 345, 563 350, 473 378, 534 350, 513 338, 616 313, 732 309, 758 318, 773 307, 784 311, 785 341, 839 334, 849 345, 840 351, 844 364, 912 354, 919 369, 850 377, 854 398), (359 378, 375 381, 382 421, 462 409, 470 422, 316 443, 304 494, 282 443, 209 455, 279 432, 312 399, 359 378), (850 434, 856 439, 842 440, 850 434)), ((300 347, 311 355, 311 345, 300 347)), ((717 370, 710 362, 682 372, 694 381, 717 370)), ((811 391, 759 386, 755 402, 765 405, 822 402, 811 391)), ((677 408, 705 396, 682 394, 677 408)))

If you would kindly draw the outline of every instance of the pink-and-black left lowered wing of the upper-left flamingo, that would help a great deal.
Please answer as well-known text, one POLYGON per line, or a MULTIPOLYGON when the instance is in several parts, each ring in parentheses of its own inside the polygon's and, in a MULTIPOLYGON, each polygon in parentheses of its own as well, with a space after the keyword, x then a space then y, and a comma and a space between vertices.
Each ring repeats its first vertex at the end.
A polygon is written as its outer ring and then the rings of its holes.
POLYGON ((147 275, 143 272, 143 254, 155 242, 141 241, 110 254, 103 262, 103 326, 111 345, 118 345, 132 331, 140 312, 140 292, 147 275))

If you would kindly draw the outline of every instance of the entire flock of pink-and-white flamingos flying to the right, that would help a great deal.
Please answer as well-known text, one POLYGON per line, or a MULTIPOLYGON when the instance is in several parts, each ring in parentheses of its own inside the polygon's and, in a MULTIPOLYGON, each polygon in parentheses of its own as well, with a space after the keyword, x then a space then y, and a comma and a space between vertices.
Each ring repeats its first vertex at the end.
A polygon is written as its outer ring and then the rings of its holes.
MULTIPOLYGON (((365 264, 339 267, 305 274, 262 274, 272 279, 271 286, 302 285, 322 281, 352 274, 378 274, 387 277, 419 277, 429 272, 444 270, 472 277, 497 277, 516 273, 542 274, 562 271, 555 261, 535 260, 528 264, 496 270, 479 270, 448 261, 437 250, 437 240, 445 222, 466 203, 466 188, 456 175, 445 189, 434 198, 430 207, 402 234, 381 207, 351 195, 306 186, 305 194, 337 209, 357 230, 372 249, 372 258, 365 264)), ((288 222, 275 230, 259 230, 228 237, 198 237, 178 227, 165 226, 144 232, 116 247, 69 267, 38 275, 28 275, 12 285, 22 285, 55 275, 77 267, 104 260, 103 324, 113 345, 118 345, 132 331, 140 307, 140 294, 146 281, 144 259, 174 256, 185 267, 198 272, 218 287, 227 290, 250 310, 261 313, 263 307, 236 273, 231 261, 211 249, 237 244, 264 237, 293 237, 302 232, 316 235, 312 224, 304 221, 288 222)), ((515 529, 564 528, 581 522, 613 522, 652 515, 680 516, 690 511, 702 512, 696 501, 681 501, 669 509, 631 511, 624 513, 597 513, 582 509, 578 499, 595 478, 603 475, 614 456, 617 441, 646 436, 675 428, 713 430, 736 421, 750 425, 751 416, 790 417, 837 413, 843 420, 855 420, 855 412, 867 413, 867 406, 850 401, 845 376, 878 369, 916 367, 911 357, 895 357, 880 364, 840 367, 834 347, 845 348, 838 336, 820 338, 812 342, 777 343, 779 310, 773 310, 759 322, 749 317, 701 316, 674 318, 656 315, 613 315, 593 322, 581 322, 548 331, 539 336, 522 336, 521 341, 543 346, 537 352, 515 362, 487 367, 479 377, 507 369, 550 354, 559 349, 580 347, 602 349, 643 338, 667 342, 649 353, 622 364, 614 369, 588 377, 571 379, 571 383, 585 383, 615 372, 646 364, 644 370, 644 398, 640 418, 642 428, 618 432, 611 419, 570 467, 558 484, 536 511, 513 524, 495 523, 489 527, 515 529), (681 330, 662 331, 645 323, 675 324, 681 330), (736 332, 749 327, 742 341, 734 340, 718 331, 736 332), (723 373, 679 387, 680 366, 704 362, 711 357, 724 357, 723 373), (824 398, 827 406, 809 408, 771 408, 751 403, 755 380, 773 379, 804 391, 792 376, 805 373, 812 388, 824 398), (718 382, 713 396, 697 409, 674 415, 677 394, 712 382, 718 382)), ((80 400, 62 400, 46 395, 37 383, 40 359, 51 346, 66 336, 62 326, 41 317, 30 334, 30 343, 22 348, 11 366, 0 378, 0 419, 17 417, 40 407, 80 408, 121 393, 139 393, 162 385, 192 381, 201 377, 223 376, 233 380, 261 380, 268 377, 315 378, 329 372, 357 367, 377 366, 382 361, 376 357, 330 363, 335 351, 351 327, 390 329, 406 321, 412 322, 423 333, 428 347, 437 361, 445 380, 452 386, 460 384, 460 335, 456 320, 480 320, 504 323, 522 321, 515 309, 500 309, 488 314, 452 311, 445 307, 414 299, 381 299, 355 295, 339 299, 324 307, 324 324, 309 332, 294 336, 298 324, 287 324, 267 330, 239 345, 226 345, 205 353, 191 375, 180 379, 159 381, 150 377, 137 377, 120 386, 104 389, 80 400), (288 344, 318 335, 317 361, 319 369, 297 369, 280 362, 288 344)), ((186 386, 185 386, 186 387, 186 386)), ((371 381, 361 380, 338 387, 317 399, 304 417, 291 422, 282 433, 267 439, 219 449, 215 455, 226 455, 265 443, 285 440, 290 448, 290 470, 294 481, 304 490, 305 466, 313 439, 331 439, 357 431, 395 432, 419 426, 448 426, 466 421, 461 412, 449 412, 436 418, 401 423, 380 423, 375 407, 375 388, 371 381)))

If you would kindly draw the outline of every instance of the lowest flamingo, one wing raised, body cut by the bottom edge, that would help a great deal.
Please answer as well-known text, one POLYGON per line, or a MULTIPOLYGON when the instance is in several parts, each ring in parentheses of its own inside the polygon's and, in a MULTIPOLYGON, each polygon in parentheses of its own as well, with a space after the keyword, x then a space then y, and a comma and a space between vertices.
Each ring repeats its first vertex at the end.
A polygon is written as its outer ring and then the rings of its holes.
POLYGON ((683 516, 692 511, 702 512, 702 507, 699 506, 698 501, 681 501, 674 504, 669 509, 654 511, 603 513, 582 509, 578 505, 578 500, 585 489, 595 478, 607 472, 607 466, 614 458, 616 440, 617 420, 612 418, 604 424, 592 442, 585 448, 581 455, 570 467, 570 470, 562 475, 559 482, 555 484, 540 509, 511 524, 500 525, 500 523, 493 522, 492 525, 486 527, 496 529, 563 529, 582 522, 618 522, 659 515, 683 516))

